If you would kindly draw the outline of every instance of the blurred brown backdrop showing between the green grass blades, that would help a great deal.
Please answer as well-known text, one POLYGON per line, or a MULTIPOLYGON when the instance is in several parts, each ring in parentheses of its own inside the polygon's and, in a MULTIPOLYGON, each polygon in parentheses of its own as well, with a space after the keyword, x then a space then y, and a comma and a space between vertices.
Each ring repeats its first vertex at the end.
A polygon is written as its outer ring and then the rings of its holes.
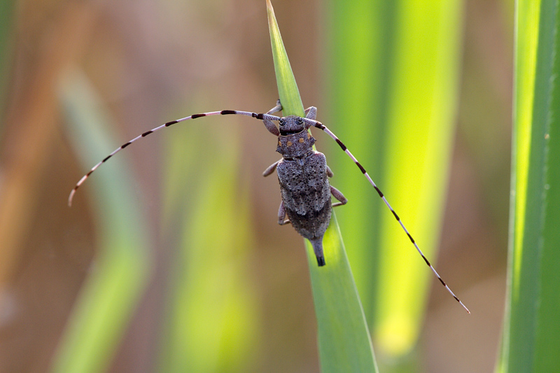
MULTIPOLYGON (((274 7, 304 105, 321 115, 323 4, 274 7)), ((427 372, 490 372, 496 360, 505 293, 512 9, 512 1, 465 1, 461 103, 437 267, 461 279, 454 288, 472 316, 458 317, 447 293, 433 291, 419 348, 427 372)), ((60 80, 76 69, 85 73, 116 118, 121 142, 191 113, 266 111, 277 98, 276 82, 262 0, 16 1, 6 11, 13 34, 1 50, 9 65, 0 86, 0 372, 44 372, 97 244, 87 187, 66 206, 87 169, 61 124, 60 80)), ((307 262, 303 250, 292 249, 301 238, 277 227, 276 181, 261 177, 278 158, 274 139, 241 122, 214 130, 247 133, 239 173, 248 181, 257 232, 247 270, 266 325, 254 369, 317 372, 307 262)), ((197 123, 191 130, 207 129, 197 123)), ((155 272, 111 372, 151 372, 158 354, 171 246, 158 233, 162 151, 154 137, 127 152, 137 180, 131 193, 150 210, 155 272)), ((338 151, 321 146, 328 148, 338 151)))

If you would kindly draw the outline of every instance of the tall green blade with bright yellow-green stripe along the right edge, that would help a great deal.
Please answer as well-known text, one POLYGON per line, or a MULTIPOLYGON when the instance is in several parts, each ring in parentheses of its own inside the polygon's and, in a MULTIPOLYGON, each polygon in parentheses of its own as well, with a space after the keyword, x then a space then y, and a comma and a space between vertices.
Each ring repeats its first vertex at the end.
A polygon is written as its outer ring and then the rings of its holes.
POLYGON ((560 366, 560 12, 517 1, 508 300, 498 372, 560 366))

